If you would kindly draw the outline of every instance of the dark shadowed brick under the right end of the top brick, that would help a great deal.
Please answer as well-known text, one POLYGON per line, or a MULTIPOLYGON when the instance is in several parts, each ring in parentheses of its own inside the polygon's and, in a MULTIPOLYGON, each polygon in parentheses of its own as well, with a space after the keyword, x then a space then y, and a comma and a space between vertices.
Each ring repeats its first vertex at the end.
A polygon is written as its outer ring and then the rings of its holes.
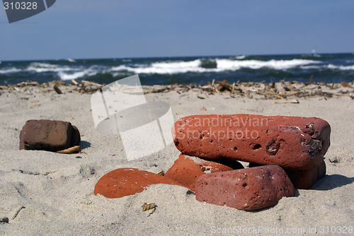
MULTIPOLYGON (((249 163, 249 167, 258 166, 260 165, 249 163)), ((321 164, 309 170, 284 170, 295 189, 311 189, 317 180, 326 176, 326 163, 323 160, 321 164)))

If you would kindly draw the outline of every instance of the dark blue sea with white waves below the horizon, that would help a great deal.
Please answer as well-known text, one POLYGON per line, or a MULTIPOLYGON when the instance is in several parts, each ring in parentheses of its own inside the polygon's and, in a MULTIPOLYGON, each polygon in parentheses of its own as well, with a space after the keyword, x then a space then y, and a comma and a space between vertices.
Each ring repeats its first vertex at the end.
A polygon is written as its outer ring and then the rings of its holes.
POLYGON ((354 53, 0 61, 0 85, 73 79, 108 84, 135 74, 142 85, 307 82, 311 76, 314 83, 352 82, 354 53))

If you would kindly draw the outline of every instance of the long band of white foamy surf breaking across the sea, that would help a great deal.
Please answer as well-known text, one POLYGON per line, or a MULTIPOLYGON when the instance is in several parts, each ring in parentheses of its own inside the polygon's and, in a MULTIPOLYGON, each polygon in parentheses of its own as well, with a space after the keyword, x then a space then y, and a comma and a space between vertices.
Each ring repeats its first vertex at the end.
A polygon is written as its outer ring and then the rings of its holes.
MULTIPOLYGON (((255 59, 244 59, 246 56, 233 57, 233 59, 211 59, 217 64, 217 68, 203 68, 202 62, 205 59, 195 59, 193 61, 158 61, 152 64, 122 64, 120 66, 98 66, 91 65, 89 68, 80 66, 80 64, 50 64, 45 62, 32 62, 25 69, 16 67, 3 67, 0 69, 0 74, 30 72, 30 73, 55 73, 63 81, 76 78, 85 78, 95 76, 98 73, 110 73, 113 77, 125 75, 128 73, 156 73, 156 74, 174 74, 174 73, 203 73, 203 72, 222 72, 222 71, 238 71, 241 69, 332 69, 343 71, 354 71, 354 65, 333 65, 324 64, 323 61, 310 59, 290 59, 290 60, 275 60, 261 61, 255 59)), ((72 59, 67 59, 68 61, 72 59)), ((74 62, 74 60, 72 61, 74 62)))

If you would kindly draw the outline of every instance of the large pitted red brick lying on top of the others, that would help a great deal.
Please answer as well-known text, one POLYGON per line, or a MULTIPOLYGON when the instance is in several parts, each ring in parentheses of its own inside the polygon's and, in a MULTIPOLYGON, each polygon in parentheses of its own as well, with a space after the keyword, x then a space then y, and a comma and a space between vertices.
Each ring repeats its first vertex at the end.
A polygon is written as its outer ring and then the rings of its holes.
POLYGON ((323 119, 254 114, 195 115, 179 119, 172 128, 181 153, 289 170, 318 166, 329 148, 330 133, 323 119))

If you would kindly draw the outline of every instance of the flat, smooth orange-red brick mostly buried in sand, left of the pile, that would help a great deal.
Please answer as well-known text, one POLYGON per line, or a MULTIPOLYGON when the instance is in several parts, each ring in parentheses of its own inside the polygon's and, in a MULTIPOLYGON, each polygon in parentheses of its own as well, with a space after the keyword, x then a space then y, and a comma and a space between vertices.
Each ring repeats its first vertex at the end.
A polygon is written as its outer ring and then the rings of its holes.
POLYGON ((121 168, 103 175, 96 183, 93 193, 115 199, 142 192, 152 184, 181 185, 168 177, 145 170, 121 168))

